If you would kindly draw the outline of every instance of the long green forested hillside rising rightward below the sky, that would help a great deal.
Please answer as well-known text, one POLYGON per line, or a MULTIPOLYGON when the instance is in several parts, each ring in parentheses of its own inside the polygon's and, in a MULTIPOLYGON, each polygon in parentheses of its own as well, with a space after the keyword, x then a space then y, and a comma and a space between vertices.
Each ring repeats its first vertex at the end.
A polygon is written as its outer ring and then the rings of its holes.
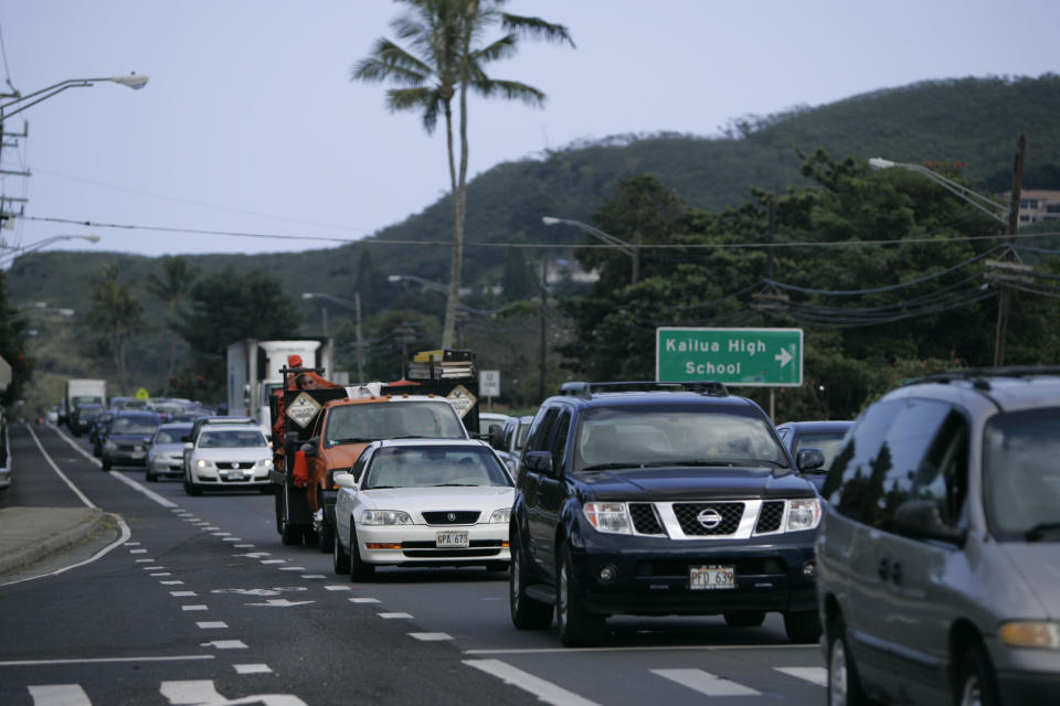
MULTIPOLYGON (((930 81, 816 108, 743 116, 719 137, 615 136, 501 163, 468 186, 464 284, 480 291, 502 281, 510 248, 489 244, 554 245, 547 250, 524 250, 531 267, 542 257, 568 256, 571 246, 584 242, 582 234, 570 227, 544 226, 541 216, 590 222, 616 181, 636 173, 656 175, 690 206, 719 211, 746 202, 753 189, 782 193, 807 184, 799 172, 799 152, 823 148, 835 158, 881 156, 900 162, 963 163, 964 178, 978 191, 1000 193, 1009 188, 1017 137, 1024 133, 1024 189, 1060 189, 1057 115, 1060 76, 1056 74, 930 81)), ((470 140, 474 150, 474 133, 470 140)), ((369 248, 378 303, 365 315, 395 304, 441 311, 442 295, 426 292, 413 300, 407 290, 388 284, 386 275, 446 281, 449 234, 448 199, 441 199, 359 244, 299 254, 194 255, 187 259, 202 272, 232 266, 241 271, 257 268, 277 274, 295 298, 308 289, 352 298, 362 252, 369 248)), ((10 300, 77 309, 85 301, 91 278, 114 260, 120 263, 123 278, 137 282, 159 271, 161 261, 117 253, 31 254, 19 258, 8 272, 10 300)), ((148 320, 157 327, 151 336, 137 343, 147 368, 165 357, 158 351, 165 317, 146 293, 141 301, 148 320)), ((484 308, 499 306, 488 297, 467 301, 484 308)), ((317 304, 305 302, 304 313, 309 323, 303 333, 319 333, 317 304)), ((60 364, 53 362, 52 366, 60 364)))

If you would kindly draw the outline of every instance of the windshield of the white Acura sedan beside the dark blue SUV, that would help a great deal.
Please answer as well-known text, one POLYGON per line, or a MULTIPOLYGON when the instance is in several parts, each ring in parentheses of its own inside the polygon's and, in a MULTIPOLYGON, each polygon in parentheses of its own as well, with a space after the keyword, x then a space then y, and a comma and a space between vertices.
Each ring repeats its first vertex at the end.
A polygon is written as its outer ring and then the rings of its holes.
POLYGON ((361 484, 373 488, 511 485, 497 457, 484 447, 388 447, 379 449, 361 484))

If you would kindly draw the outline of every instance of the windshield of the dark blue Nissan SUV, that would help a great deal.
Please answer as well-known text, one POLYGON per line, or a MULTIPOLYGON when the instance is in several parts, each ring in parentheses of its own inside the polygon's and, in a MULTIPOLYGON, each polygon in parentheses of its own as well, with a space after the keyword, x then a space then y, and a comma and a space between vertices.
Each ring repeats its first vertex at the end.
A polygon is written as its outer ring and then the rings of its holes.
POLYGON ((597 407, 579 431, 575 470, 668 464, 787 466, 766 420, 748 407, 597 407))

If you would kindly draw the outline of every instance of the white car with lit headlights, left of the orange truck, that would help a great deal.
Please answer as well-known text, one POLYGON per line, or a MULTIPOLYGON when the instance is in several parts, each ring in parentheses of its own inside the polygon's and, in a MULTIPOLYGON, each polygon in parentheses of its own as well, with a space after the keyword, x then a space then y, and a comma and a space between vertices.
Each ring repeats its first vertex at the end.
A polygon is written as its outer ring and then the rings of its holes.
POLYGON ((257 427, 208 425, 184 449, 184 492, 189 495, 200 495, 204 488, 272 490, 268 472, 273 469, 273 451, 257 427))

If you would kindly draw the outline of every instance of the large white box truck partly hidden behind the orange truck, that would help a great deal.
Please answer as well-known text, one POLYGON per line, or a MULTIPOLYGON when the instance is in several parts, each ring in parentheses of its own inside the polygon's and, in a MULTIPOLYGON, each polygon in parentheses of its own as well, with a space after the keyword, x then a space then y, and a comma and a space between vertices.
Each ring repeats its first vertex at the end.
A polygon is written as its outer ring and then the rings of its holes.
POLYGON ((268 397, 284 384, 280 368, 288 355, 301 356, 306 367, 320 375, 333 374, 335 345, 331 339, 257 341, 246 339, 229 346, 229 414, 253 417, 266 435, 272 432, 268 397))

